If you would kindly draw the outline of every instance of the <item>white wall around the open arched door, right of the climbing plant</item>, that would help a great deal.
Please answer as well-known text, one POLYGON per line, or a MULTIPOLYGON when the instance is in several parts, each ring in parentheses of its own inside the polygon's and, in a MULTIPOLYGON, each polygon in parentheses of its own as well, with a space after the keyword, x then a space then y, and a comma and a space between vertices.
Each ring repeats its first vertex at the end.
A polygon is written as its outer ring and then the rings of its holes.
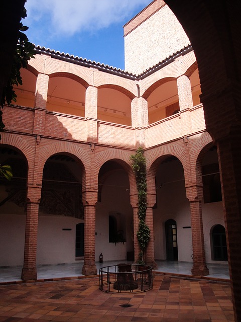
POLYGON ((156 260, 166 260, 165 222, 177 222, 178 260, 192 261, 190 205, 186 198, 184 174, 180 162, 161 165, 157 172, 157 205, 154 216, 154 250, 156 260))

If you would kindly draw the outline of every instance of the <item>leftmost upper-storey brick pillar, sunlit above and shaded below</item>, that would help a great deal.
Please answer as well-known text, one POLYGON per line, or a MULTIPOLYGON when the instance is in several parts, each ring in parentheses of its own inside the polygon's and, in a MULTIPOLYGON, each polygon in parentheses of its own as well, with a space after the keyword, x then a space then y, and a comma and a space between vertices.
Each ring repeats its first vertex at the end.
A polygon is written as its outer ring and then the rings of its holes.
POLYGON ((38 74, 36 91, 35 91, 34 128, 33 128, 33 133, 38 135, 44 134, 48 85, 49 85, 49 76, 41 73, 38 74))

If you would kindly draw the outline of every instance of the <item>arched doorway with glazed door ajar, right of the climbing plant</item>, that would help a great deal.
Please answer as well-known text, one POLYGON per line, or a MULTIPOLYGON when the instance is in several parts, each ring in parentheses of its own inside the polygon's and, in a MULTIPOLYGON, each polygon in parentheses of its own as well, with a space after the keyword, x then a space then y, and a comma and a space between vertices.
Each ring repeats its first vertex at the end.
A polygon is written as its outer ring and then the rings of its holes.
POLYGON ((165 222, 167 261, 178 261, 177 223, 173 219, 165 222))

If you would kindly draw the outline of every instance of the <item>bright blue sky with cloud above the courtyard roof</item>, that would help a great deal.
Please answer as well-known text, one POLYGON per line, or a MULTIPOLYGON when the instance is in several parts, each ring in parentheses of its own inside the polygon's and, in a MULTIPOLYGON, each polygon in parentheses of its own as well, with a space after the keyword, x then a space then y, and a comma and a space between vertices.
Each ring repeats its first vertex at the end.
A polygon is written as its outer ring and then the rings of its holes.
POLYGON ((152 0, 27 0, 35 45, 124 69, 123 26, 152 0))

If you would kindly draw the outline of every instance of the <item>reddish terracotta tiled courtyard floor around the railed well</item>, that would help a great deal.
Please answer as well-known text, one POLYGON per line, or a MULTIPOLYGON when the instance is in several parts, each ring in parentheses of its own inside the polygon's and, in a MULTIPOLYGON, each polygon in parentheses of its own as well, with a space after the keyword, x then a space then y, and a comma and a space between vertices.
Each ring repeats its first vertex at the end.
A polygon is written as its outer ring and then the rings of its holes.
POLYGON ((2 285, 0 322, 234 320, 229 283, 153 277, 152 290, 131 294, 104 293, 95 277, 2 285))

